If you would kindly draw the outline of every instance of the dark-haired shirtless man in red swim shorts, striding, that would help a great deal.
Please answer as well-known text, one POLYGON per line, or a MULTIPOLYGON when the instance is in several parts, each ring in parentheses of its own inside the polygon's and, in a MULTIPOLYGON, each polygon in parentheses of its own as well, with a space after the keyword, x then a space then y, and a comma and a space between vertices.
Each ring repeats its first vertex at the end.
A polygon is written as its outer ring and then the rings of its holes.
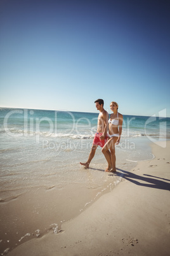
MULTIPOLYGON (((106 110, 104 110, 103 105, 104 101, 103 99, 97 99, 95 101, 97 110, 100 111, 98 115, 98 127, 97 132, 95 134, 95 138, 93 139, 93 145, 91 147, 91 152, 89 153, 88 161, 85 163, 80 162, 82 166, 85 166, 86 168, 89 167, 89 164, 93 157, 95 156, 96 148, 98 146, 101 146, 101 148, 105 145, 107 142, 107 129, 108 129, 108 113, 106 110)), ((109 152, 109 151, 108 151, 109 152)), ((109 152, 110 153, 110 152, 109 152)))

